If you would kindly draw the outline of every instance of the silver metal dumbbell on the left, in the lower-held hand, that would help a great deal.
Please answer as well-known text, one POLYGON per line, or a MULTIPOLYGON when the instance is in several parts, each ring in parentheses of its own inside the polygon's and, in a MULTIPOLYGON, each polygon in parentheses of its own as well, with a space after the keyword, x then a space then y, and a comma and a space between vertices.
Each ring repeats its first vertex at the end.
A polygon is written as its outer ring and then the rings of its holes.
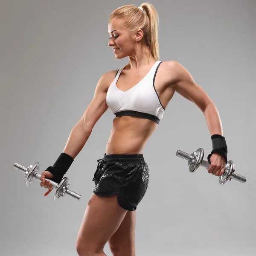
MULTIPOLYGON (((41 175, 38 174, 39 166, 40 166, 39 163, 35 163, 33 166, 30 165, 28 168, 25 166, 22 166, 19 163, 14 163, 13 165, 15 169, 25 174, 27 186, 29 186, 35 179, 41 182, 40 180, 41 175)), ((45 180, 49 180, 49 179, 45 179, 45 180)), ((52 180, 49 180, 49 181, 52 183, 52 187, 56 189, 55 194, 53 196, 54 200, 58 200, 60 197, 64 197, 66 194, 71 196, 72 198, 75 198, 76 200, 79 200, 81 198, 81 195, 68 189, 70 186, 70 184, 68 184, 68 177, 64 177, 60 183, 56 183, 52 180)))

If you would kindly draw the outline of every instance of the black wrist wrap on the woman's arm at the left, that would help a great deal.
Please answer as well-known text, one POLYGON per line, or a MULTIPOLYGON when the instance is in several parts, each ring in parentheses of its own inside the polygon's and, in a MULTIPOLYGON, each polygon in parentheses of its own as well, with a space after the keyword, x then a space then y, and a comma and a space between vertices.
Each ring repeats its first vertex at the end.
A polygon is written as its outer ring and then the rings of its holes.
POLYGON ((74 159, 70 157, 68 154, 61 153, 53 166, 49 166, 46 171, 53 174, 53 178, 49 179, 56 183, 60 183, 64 174, 70 168, 74 159))

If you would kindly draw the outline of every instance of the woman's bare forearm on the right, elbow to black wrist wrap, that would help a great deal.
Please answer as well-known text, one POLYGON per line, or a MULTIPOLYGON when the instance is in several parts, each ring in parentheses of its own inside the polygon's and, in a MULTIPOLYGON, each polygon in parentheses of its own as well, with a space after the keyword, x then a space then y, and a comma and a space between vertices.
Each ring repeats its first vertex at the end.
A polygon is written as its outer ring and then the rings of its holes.
POLYGON ((204 116, 211 135, 219 134, 223 136, 221 118, 218 109, 213 103, 209 103, 204 111, 204 116))

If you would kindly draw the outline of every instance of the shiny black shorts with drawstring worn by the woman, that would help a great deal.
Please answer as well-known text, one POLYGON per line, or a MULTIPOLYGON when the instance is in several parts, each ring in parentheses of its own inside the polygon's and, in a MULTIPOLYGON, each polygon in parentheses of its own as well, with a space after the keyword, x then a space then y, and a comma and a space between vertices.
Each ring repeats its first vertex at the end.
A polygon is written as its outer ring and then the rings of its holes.
POLYGON ((123 209, 135 211, 148 188, 148 165, 143 154, 104 154, 97 161, 93 192, 102 197, 117 195, 123 209))

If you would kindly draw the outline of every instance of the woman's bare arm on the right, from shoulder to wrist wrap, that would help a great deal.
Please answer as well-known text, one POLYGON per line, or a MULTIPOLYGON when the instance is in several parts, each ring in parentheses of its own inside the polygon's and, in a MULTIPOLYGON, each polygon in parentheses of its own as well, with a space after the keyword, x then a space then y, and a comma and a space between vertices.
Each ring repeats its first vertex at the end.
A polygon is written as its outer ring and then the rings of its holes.
POLYGON ((172 72, 172 84, 175 91, 184 98, 194 102, 204 113, 207 126, 211 135, 219 134, 223 136, 221 119, 218 109, 209 98, 207 93, 192 78, 185 67, 176 61, 168 62, 170 72, 172 72))

